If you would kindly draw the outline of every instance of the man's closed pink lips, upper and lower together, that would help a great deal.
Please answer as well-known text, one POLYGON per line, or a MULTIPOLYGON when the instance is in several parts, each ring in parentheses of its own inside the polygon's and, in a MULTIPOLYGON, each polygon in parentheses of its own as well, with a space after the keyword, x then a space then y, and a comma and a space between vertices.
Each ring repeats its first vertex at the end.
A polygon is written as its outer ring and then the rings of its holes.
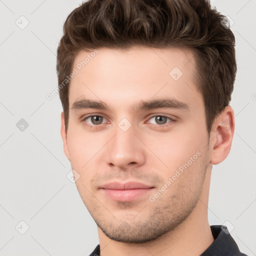
POLYGON ((140 182, 111 182, 104 184, 100 190, 104 195, 115 201, 132 201, 148 193, 153 189, 152 186, 140 182))

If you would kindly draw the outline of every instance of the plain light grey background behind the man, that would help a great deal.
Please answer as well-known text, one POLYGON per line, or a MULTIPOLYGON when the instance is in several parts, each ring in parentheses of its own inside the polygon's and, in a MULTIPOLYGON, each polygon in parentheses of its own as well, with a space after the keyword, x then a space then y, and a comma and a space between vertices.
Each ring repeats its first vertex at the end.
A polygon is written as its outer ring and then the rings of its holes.
MULTIPOLYGON (((59 97, 46 98, 57 86, 63 22, 79 3, 0 0, 0 255, 85 256, 98 244, 96 224, 66 177, 59 97), (24 234, 20 221, 29 226, 24 234)), ((213 166, 208 218, 227 225, 240 250, 255 255, 256 1, 211 3, 234 21, 238 72, 235 134, 227 159, 213 166)))

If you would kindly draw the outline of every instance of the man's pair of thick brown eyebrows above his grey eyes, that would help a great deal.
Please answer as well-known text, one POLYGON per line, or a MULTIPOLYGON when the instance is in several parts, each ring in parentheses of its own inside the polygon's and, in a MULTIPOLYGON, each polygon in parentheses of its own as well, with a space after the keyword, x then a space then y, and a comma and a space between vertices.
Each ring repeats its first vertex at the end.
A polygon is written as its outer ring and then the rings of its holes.
MULTIPOLYGON (((95 108, 102 110, 111 110, 111 108, 103 101, 91 100, 83 98, 81 100, 75 101, 72 104, 72 110, 86 109, 86 108, 95 108)), ((154 100, 140 100, 139 102, 132 105, 132 110, 138 112, 140 110, 151 110, 155 108, 172 108, 179 110, 189 111, 189 106, 176 99, 172 98, 162 98, 154 100)), ((111 110, 112 111, 112 110, 111 110)))

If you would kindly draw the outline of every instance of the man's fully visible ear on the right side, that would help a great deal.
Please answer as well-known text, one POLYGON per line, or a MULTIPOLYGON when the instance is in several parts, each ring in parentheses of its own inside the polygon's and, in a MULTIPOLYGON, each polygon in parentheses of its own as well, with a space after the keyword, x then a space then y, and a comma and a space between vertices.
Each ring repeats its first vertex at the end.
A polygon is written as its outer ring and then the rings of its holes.
POLYGON ((218 164, 228 155, 234 134, 234 111, 226 106, 211 126, 210 163, 218 164))

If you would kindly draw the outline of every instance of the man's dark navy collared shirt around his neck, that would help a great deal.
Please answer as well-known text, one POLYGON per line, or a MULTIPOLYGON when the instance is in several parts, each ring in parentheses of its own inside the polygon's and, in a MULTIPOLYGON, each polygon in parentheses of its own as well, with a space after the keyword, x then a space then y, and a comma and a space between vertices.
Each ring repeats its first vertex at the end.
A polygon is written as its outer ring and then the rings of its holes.
MULTIPOLYGON (((239 251, 237 244, 229 234, 226 226, 210 226, 214 241, 200 256, 247 256, 239 251)), ((89 256, 99 256, 99 244, 89 256)))

